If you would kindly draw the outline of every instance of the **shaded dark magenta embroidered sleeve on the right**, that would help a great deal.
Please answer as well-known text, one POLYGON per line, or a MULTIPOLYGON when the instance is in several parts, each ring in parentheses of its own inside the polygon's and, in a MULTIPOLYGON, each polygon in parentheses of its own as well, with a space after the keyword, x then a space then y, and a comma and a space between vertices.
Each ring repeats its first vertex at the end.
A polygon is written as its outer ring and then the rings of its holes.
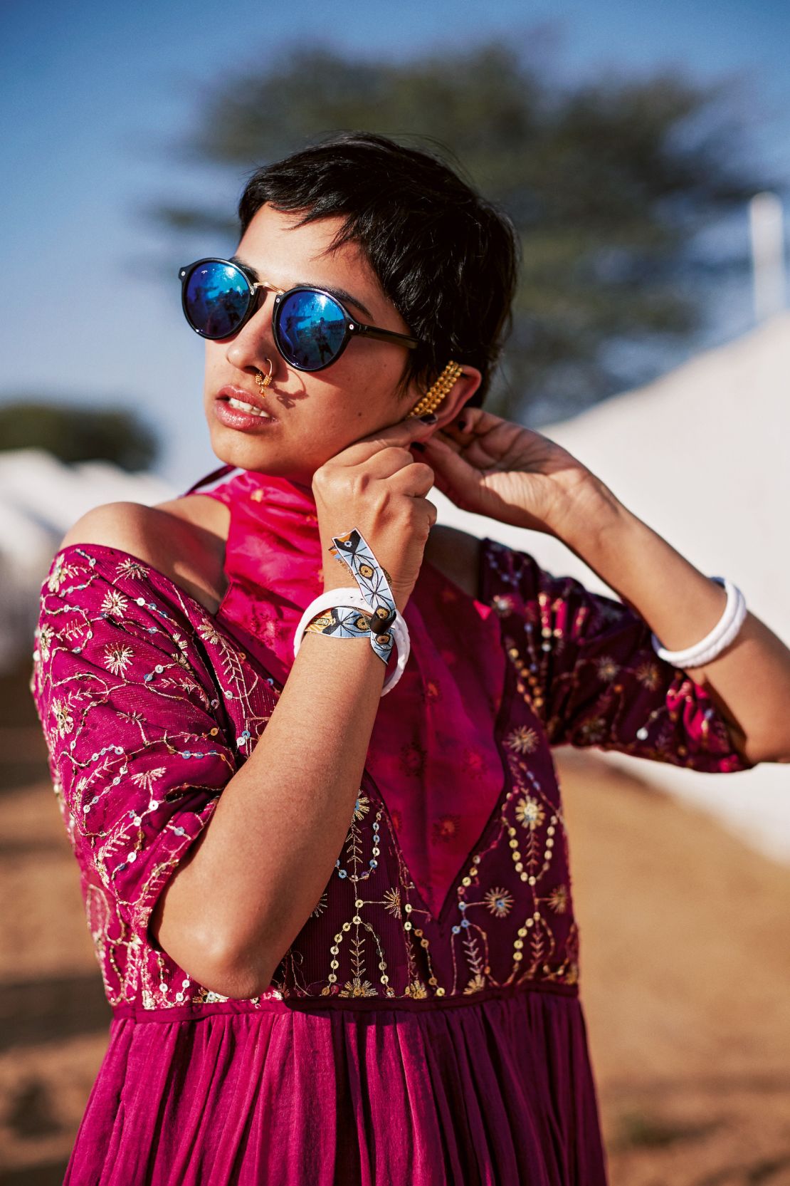
POLYGON ((659 658, 622 601, 487 540, 489 601, 552 745, 596 746, 707 773, 750 770, 709 693, 659 658))

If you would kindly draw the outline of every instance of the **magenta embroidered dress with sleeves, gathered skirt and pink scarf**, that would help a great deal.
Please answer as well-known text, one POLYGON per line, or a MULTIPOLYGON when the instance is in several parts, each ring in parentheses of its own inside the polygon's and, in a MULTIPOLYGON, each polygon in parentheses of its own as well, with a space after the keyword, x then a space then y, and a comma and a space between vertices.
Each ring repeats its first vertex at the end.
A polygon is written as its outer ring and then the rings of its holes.
POLYGON ((425 561, 320 900, 265 993, 207 990, 150 913, 322 580, 303 490, 201 485, 231 512, 216 614, 101 544, 58 551, 41 586, 31 690, 113 1008, 66 1184, 602 1186, 552 747, 750 764, 619 601, 490 538, 475 598, 425 561))

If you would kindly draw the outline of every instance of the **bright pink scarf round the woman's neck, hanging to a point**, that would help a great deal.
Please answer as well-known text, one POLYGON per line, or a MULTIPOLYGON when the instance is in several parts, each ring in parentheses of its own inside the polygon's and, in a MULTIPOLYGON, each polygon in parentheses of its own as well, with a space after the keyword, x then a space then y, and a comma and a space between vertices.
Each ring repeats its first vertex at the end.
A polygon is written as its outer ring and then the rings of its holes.
MULTIPOLYGON (((230 584, 217 619, 282 684, 294 662, 298 619, 323 589, 315 499, 285 478, 251 470, 236 471, 214 490, 199 485, 192 490, 231 509, 230 584)), ((365 769, 388 809, 415 884, 438 917, 505 783, 495 721, 506 657, 496 613, 428 560, 404 618, 411 653, 399 682, 380 701, 365 769)))

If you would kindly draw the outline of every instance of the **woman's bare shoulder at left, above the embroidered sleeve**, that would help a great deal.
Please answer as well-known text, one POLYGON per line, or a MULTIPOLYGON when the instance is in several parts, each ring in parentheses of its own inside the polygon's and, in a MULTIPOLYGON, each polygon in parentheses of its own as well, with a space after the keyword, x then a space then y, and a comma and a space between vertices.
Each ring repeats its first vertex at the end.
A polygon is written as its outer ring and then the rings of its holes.
POLYGON ((59 549, 97 543, 127 551, 163 573, 213 613, 225 592, 229 514, 217 499, 198 496, 174 498, 154 506, 104 503, 94 506, 69 528, 59 549), (212 505, 199 508, 193 505, 197 502, 212 505))

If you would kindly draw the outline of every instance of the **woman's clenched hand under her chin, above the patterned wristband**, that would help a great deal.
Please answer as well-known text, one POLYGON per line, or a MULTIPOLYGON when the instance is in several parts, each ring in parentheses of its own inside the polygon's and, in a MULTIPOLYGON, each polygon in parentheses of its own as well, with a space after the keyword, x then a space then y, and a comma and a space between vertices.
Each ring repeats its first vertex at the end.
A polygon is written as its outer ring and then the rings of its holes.
POLYGON ((425 495, 433 470, 409 452, 435 425, 407 417, 362 436, 313 474, 323 560, 323 587, 355 586, 347 566, 329 553, 333 536, 354 528, 384 568, 399 613, 415 587, 436 506, 425 495))

